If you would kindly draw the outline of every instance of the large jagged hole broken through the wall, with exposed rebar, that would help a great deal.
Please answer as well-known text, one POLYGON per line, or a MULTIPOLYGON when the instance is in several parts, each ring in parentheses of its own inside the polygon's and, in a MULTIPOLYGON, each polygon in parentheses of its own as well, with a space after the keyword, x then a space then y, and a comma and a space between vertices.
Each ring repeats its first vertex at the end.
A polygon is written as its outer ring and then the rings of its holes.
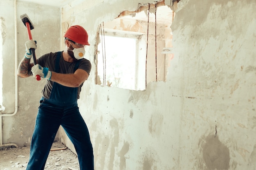
POLYGON ((124 11, 98 26, 95 84, 145 90, 149 82, 166 81, 173 59, 174 12, 164 1, 124 11))

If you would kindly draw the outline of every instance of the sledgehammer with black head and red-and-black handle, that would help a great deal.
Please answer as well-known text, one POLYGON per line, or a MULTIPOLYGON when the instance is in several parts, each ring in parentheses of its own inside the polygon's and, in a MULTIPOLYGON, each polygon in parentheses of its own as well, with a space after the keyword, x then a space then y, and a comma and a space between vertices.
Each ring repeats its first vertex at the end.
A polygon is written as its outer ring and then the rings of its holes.
MULTIPOLYGON (((31 35, 31 29, 34 29, 34 25, 32 24, 32 22, 29 20, 29 17, 27 16, 27 14, 23 14, 20 15, 20 19, 22 20, 22 22, 24 23, 24 25, 27 27, 27 34, 29 36, 29 40, 32 40, 32 35, 31 35)), ((30 49, 31 53, 32 53, 32 57, 33 57, 33 61, 34 61, 34 65, 37 64, 36 61, 36 53, 35 53, 35 49, 30 49)), ((40 80, 40 75, 36 75, 36 80, 40 80)))

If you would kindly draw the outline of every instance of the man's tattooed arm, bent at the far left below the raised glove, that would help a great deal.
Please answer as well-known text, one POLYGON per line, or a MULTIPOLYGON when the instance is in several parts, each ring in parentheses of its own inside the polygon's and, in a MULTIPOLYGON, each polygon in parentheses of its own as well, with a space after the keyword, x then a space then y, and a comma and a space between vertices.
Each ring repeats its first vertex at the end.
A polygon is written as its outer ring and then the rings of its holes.
POLYGON ((34 66, 34 63, 30 63, 30 58, 24 57, 18 66, 18 77, 26 78, 33 75, 31 72, 32 66, 34 66))

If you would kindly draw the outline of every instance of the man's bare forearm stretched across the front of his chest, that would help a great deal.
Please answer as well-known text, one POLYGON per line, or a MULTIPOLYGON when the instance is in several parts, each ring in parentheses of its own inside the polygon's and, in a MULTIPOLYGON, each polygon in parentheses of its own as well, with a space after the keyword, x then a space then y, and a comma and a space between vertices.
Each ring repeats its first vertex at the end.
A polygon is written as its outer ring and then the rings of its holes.
POLYGON ((77 69, 74 74, 61 74, 52 71, 51 80, 67 87, 78 87, 89 77, 82 69, 77 69))

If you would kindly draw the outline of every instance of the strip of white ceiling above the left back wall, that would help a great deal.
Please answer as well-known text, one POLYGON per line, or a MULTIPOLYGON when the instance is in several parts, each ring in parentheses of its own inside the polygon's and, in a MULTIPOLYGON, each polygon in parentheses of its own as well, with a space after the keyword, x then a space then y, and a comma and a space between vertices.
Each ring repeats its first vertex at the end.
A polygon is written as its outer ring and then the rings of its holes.
POLYGON ((43 4, 43 5, 50 5, 54 7, 63 7, 70 2, 78 1, 78 0, 18 0, 23 2, 31 2, 35 4, 43 4))

